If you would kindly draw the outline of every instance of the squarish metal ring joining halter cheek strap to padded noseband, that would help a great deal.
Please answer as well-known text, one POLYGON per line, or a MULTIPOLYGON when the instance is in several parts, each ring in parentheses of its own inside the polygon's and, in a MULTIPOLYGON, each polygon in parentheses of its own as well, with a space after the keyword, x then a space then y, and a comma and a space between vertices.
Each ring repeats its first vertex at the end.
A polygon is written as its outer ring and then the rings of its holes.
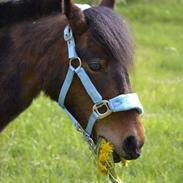
POLYGON ((98 119, 105 118, 106 116, 108 116, 112 113, 111 109, 109 108, 108 103, 109 102, 107 100, 102 100, 102 102, 100 104, 95 104, 93 106, 93 111, 95 111, 97 113, 98 119), (105 111, 100 112, 99 110, 104 107, 105 107, 105 111))

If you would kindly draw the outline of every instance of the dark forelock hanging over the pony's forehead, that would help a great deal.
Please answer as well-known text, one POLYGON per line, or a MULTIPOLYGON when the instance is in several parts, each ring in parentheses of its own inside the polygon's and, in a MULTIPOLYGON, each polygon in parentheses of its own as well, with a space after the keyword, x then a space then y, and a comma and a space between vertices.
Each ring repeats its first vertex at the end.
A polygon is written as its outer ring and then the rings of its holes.
POLYGON ((128 69, 133 64, 133 44, 131 33, 124 20, 111 9, 93 7, 84 11, 93 38, 106 53, 120 61, 128 69))

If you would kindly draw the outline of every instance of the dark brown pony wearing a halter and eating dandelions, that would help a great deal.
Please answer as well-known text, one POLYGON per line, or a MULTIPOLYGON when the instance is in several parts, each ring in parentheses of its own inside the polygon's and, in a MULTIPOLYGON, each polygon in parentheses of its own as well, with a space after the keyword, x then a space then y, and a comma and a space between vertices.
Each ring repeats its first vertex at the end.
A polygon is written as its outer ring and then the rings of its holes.
MULTIPOLYGON (((129 68, 133 45, 125 21, 113 11, 114 0, 82 12, 60 0, 20 0, 0 4, 0 131, 43 91, 57 101, 68 68, 64 27, 70 24, 76 49, 87 74, 105 99, 131 93, 129 68)), ((92 101, 78 77, 66 97, 66 107, 83 128, 92 101)), ((115 146, 114 160, 136 159, 144 143, 137 111, 113 113, 94 126, 99 136, 115 146)))

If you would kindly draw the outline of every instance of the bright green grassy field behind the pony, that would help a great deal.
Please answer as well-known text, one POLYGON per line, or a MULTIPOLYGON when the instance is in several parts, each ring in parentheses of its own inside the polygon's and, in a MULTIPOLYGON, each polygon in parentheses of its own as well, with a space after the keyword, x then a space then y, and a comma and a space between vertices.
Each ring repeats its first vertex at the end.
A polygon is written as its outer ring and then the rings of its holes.
MULTIPOLYGON (((146 144, 125 170, 125 183, 182 183, 183 2, 131 1, 119 3, 117 11, 134 32, 137 64, 131 80, 146 112, 146 144)), ((15 182, 108 181, 97 174, 67 116, 41 96, 0 135, 0 183, 15 182)))

